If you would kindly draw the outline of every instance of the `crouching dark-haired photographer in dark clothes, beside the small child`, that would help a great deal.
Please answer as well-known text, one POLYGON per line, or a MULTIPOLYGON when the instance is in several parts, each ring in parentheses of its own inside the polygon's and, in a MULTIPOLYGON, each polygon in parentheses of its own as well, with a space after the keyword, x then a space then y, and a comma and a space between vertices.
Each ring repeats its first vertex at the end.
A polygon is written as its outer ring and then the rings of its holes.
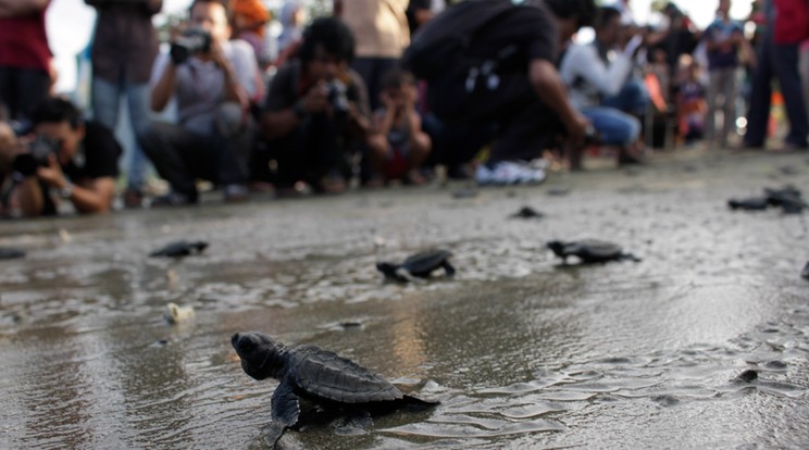
POLYGON ((281 188, 299 180, 319 192, 341 192, 341 163, 368 136, 368 92, 349 67, 354 40, 335 17, 312 22, 303 32, 299 59, 273 78, 261 130, 278 163, 281 188))

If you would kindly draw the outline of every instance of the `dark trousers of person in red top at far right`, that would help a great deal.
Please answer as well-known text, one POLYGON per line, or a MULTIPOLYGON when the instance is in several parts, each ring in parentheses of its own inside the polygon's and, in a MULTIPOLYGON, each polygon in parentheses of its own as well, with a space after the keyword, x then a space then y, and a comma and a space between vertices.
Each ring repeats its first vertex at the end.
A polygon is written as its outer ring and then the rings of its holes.
POLYGON ((807 105, 804 104, 804 93, 798 73, 798 45, 774 43, 772 34, 767 33, 757 52, 758 63, 752 74, 750 90, 750 107, 747 114, 747 133, 745 145, 763 147, 767 138, 767 125, 770 117, 770 83, 775 76, 784 97, 786 115, 789 120, 787 143, 806 147, 809 134, 807 105))

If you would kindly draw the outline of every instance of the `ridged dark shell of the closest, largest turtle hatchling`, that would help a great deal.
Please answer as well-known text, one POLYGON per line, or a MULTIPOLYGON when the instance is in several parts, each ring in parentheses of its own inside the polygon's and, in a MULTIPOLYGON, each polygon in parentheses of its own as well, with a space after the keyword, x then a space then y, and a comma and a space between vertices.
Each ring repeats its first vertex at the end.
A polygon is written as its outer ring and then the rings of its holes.
POLYGON ((302 396, 340 403, 401 400, 396 386, 365 367, 314 346, 296 347, 287 353, 288 379, 302 396))

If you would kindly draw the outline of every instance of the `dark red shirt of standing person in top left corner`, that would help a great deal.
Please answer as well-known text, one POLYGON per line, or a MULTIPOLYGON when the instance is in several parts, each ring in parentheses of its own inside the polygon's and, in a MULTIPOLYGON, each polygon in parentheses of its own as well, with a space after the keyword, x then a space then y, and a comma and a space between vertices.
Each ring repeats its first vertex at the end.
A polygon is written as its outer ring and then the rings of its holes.
POLYGON ((0 18, 0 66, 50 70, 45 10, 20 17, 0 18))

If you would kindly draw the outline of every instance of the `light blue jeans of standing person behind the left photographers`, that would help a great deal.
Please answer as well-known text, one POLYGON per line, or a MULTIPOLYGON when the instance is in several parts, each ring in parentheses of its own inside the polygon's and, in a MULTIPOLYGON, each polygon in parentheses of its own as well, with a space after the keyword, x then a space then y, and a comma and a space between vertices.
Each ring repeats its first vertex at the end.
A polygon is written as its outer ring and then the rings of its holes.
MULTIPOLYGON (((149 160, 138 146, 138 136, 149 129, 149 85, 130 84, 126 80, 113 83, 103 78, 92 79, 92 114, 97 122, 115 130, 121 110, 121 97, 126 96, 132 138, 121 142, 124 147, 124 166, 127 189, 140 190, 149 171, 149 160)), ((119 137, 119 140, 122 140, 119 137)))

